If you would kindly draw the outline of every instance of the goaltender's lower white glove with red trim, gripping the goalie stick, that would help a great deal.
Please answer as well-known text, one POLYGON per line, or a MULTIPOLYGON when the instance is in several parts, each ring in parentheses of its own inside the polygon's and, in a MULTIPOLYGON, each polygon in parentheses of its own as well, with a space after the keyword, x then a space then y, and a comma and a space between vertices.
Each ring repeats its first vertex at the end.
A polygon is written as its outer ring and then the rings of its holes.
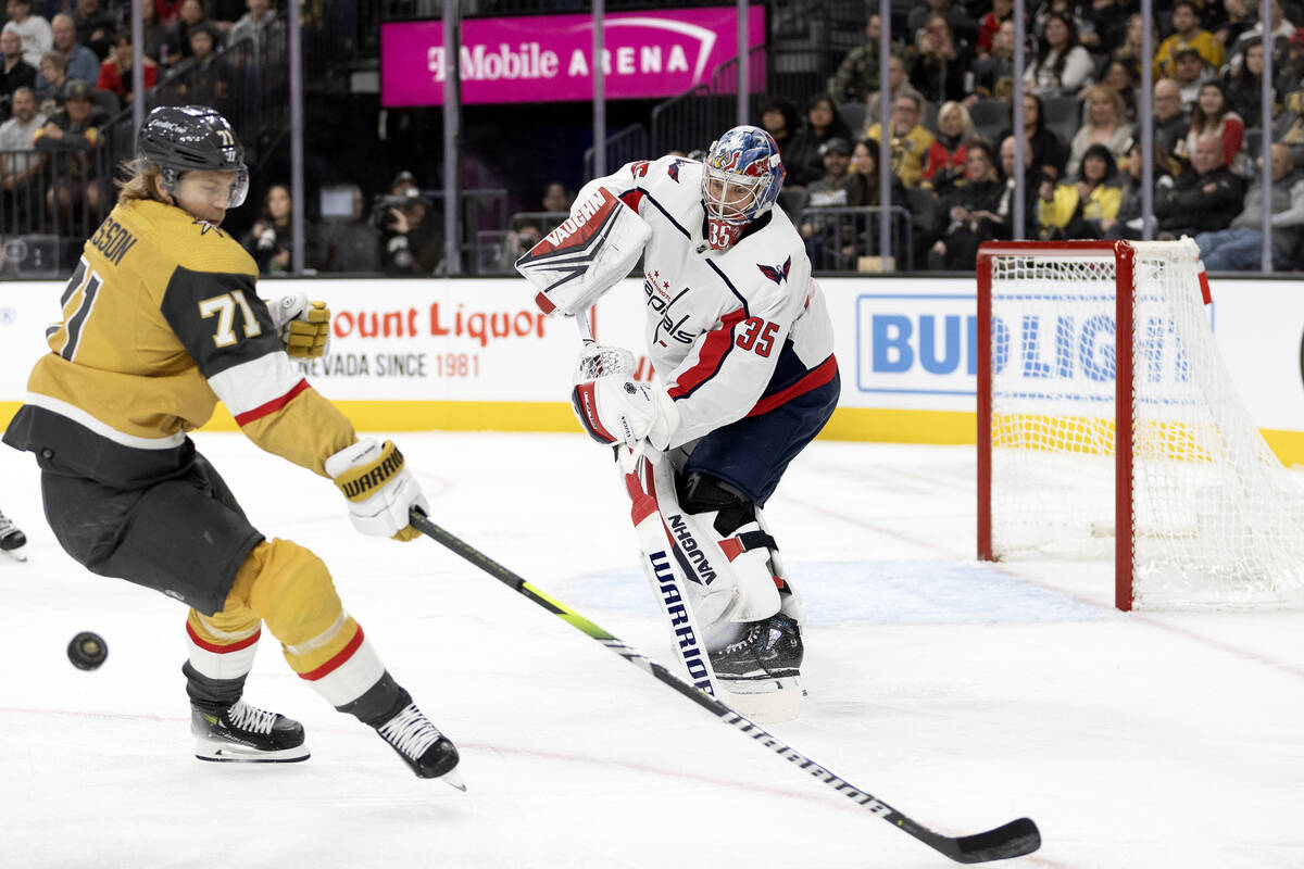
POLYGON ((632 447, 647 438, 653 448, 665 451, 679 427, 679 409, 665 390, 622 377, 578 383, 571 390, 571 409, 584 431, 608 446, 632 447))

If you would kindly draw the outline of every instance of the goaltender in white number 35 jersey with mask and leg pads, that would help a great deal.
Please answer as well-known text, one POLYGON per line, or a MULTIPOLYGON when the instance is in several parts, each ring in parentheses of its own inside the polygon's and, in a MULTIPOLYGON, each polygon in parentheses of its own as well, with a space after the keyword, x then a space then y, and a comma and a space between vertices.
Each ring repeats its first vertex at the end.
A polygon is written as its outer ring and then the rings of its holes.
POLYGON ((630 379, 629 353, 596 347, 572 404, 595 439, 629 447, 644 568, 694 684, 759 720, 795 717, 803 693, 801 601, 760 508, 840 392, 824 298, 773 207, 782 175, 773 138, 738 126, 704 163, 664 156, 591 181, 518 262, 545 310, 576 315, 643 254, 660 383, 630 379))

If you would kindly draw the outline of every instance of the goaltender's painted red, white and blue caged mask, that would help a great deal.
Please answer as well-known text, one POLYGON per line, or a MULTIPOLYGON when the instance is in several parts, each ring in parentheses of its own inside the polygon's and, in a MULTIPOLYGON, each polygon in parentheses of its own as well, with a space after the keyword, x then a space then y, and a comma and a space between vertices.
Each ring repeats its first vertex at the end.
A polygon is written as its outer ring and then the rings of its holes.
POLYGON ((759 126, 735 126, 712 142, 702 173, 711 248, 738 241, 748 223, 775 206, 782 184, 778 145, 759 126))

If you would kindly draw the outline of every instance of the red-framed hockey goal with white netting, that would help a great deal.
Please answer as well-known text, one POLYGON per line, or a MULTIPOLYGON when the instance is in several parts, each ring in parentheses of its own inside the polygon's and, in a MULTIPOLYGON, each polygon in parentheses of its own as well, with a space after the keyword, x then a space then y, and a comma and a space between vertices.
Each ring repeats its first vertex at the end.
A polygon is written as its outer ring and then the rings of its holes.
POLYGON ((1236 393, 1202 279, 1189 240, 985 245, 981 558, 1112 558, 1123 610, 1304 603, 1304 489, 1236 393))

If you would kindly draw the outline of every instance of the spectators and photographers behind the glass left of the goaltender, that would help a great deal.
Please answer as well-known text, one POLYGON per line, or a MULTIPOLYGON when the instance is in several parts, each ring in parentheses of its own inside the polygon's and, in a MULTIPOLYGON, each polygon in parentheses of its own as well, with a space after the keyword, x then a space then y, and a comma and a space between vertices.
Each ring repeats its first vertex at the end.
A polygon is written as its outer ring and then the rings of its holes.
MULTIPOLYGON (((112 205, 111 167, 94 159, 102 129, 136 98, 130 3, 5 3, 0 235, 63 235, 64 259, 74 258, 86 231, 112 205)), ((276 17, 274 0, 145 0, 142 13, 145 87, 171 82, 177 95, 203 103, 223 94, 231 64, 222 68, 219 59, 241 43, 259 57, 276 17)), ((241 244, 262 274, 287 274, 295 245, 289 186, 275 180, 258 186, 258 216, 241 244)), ((323 207, 304 225, 306 270, 430 275, 442 268, 442 214, 411 172, 400 172, 372 201, 351 184, 314 193, 323 207)), ((569 205, 554 198, 545 210, 565 212, 569 205)))

